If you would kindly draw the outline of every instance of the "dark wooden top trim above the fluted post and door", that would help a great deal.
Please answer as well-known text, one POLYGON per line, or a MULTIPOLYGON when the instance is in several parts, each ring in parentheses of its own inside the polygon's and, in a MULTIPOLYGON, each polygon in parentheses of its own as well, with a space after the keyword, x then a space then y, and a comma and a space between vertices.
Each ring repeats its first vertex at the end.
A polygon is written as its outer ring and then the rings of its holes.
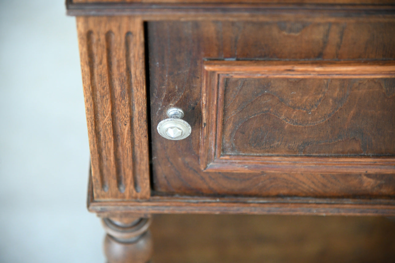
MULTIPOLYGON (((90 0, 88 0, 90 1, 90 0)), ((94 0, 92 0, 94 1, 94 0)), ((181 2, 77 2, 66 0, 68 15, 139 15, 146 21, 161 20, 233 20, 233 21, 360 21, 366 17, 376 22, 394 19, 393 0, 253 0, 248 2, 188 1, 181 2)))

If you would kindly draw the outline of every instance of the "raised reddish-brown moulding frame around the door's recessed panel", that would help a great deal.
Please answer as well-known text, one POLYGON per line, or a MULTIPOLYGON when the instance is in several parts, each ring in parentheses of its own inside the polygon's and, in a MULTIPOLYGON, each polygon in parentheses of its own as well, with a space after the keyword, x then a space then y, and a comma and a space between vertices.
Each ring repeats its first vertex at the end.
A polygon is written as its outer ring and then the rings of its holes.
POLYGON ((222 155, 224 77, 393 78, 395 61, 203 62, 200 167, 206 172, 395 173, 395 157, 222 155))

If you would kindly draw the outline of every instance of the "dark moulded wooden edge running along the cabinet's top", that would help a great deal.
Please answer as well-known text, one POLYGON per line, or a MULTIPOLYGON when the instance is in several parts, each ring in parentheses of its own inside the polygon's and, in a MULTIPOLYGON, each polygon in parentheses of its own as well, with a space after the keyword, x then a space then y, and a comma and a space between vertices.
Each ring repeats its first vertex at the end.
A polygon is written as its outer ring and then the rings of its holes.
POLYGON ((273 20, 287 15, 325 19, 333 17, 355 19, 357 17, 376 17, 379 20, 393 18, 395 4, 261 4, 261 3, 74 3, 66 0, 67 15, 70 16, 100 16, 100 15, 142 15, 147 20, 196 20, 232 19, 244 17, 263 20, 273 20), (229 17, 230 15, 230 17, 229 17), (265 15, 265 17, 262 17, 265 15), (234 18, 234 17, 233 17, 234 18))

